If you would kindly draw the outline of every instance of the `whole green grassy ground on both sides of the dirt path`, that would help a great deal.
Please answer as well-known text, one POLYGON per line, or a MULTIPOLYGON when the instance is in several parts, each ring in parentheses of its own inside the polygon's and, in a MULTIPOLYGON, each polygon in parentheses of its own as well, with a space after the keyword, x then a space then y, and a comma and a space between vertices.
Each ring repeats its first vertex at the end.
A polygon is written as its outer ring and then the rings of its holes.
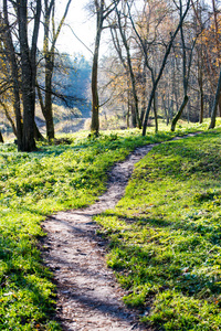
MULTIPOLYGON (((203 131, 194 126, 176 134, 203 131)), ((115 210, 96 217, 107 264, 141 320, 166 330, 220 327, 220 128, 154 147, 136 167, 115 210)), ((19 153, 1 145, 0 328, 60 330, 52 274, 38 248, 46 215, 93 204, 107 172, 136 147, 171 132, 70 136, 19 153)), ((204 329, 203 329, 204 328, 204 329)))

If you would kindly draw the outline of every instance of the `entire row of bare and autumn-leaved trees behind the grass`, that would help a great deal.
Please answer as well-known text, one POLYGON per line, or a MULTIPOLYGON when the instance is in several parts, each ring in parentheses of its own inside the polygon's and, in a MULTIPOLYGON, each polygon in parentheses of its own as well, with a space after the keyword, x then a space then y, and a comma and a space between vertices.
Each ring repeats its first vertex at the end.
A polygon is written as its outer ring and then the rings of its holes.
MULTIPOLYGON (((55 0, 34 3, 3 0, 0 8, 0 103, 21 151, 34 150, 35 140, 44 139, 34 121, 36 100, 49 140, 54 139, 54 98, 71 107, 78 104, 84 114, 90 114, 85 103, 88 63, 77 60, 82 70, 77 76, 69 56, 59 60, 55 49, 71 2, 65 2, 56 24, 55 0), (38 46, 41 24, 42 50, 38 46), (8 109, 9 103, 13 105, 13 116, 8 109)), ((127 127, 143 128, 143 135, 151 113, 156 131, 159 116, 167 124, 171 122, 171 130, 181 116, 200 122, 211 116, 213 128, 217 108, 221 114, 218 2, 94 0, 91 4, 90 10, 96 18, 92 132, 98 135, 102 109, 118 109, 127 127), (109 31, 110 51, 99 67, 104 29, 109 31)), ((0 139, 3 140, 2 136, 0 139)))

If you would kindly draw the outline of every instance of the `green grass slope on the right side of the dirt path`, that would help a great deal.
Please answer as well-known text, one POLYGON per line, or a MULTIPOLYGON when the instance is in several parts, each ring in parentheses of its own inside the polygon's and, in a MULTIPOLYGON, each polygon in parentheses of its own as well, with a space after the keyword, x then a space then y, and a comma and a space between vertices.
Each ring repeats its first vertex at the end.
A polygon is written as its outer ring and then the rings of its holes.
POLYGON ((96 217, 124 301, 160 330, 221 329, 221 130, 155 147, 96 217))

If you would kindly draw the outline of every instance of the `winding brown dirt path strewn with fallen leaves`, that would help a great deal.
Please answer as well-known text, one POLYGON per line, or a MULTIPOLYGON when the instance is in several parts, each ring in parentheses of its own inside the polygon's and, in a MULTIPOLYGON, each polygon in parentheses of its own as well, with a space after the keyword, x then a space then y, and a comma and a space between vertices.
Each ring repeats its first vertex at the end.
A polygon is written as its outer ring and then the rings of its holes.
MULTIPOLYGON (((179 139, 179 138, 178 138, 179 139)), ((90 207, 60 212, 43 224, 43 257, 57 287, 57 319, 63 330, 150 330, 128 310, 113 271, 105 265, 105 243, 96 235, 96 214, 114 209, 124 194, 134 164, 156 145, 137 148, 109 172, 106 193, 90 207)))

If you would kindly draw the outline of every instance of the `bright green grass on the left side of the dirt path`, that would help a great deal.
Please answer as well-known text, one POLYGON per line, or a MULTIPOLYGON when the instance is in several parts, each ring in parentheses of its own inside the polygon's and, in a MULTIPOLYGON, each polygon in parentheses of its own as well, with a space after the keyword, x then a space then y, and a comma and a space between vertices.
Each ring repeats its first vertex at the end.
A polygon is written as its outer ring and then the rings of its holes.
MULTIPOLYGON (((186 132, 180 128, 177 135, 186 132)), ((19 153, 11 143, 0 146, 0 330, 60 330, 53 321, 52 275, 36 248, 44 236, 41 222, 56 211, 93 203, 104 192, 114 162, 137 146, 175 136, 151 132, 143 138, 138 130, 97 139, 87 135, 73 135, 71 145, 41 145, 32 153, 19 153)))

